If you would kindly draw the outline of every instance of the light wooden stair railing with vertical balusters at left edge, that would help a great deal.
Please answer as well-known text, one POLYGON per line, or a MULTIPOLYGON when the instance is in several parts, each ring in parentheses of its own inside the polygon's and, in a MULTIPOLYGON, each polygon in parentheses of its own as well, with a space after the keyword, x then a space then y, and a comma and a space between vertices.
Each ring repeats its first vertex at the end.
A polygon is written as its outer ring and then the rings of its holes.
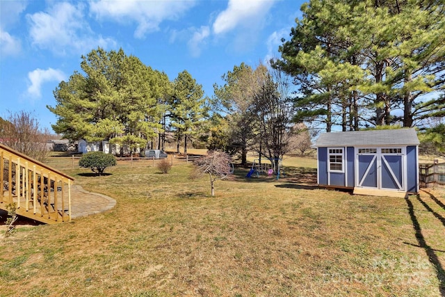
POLYGON ((0 209, 43 223, 71 220, 71 185, 63 172, 0 144, 0 209))

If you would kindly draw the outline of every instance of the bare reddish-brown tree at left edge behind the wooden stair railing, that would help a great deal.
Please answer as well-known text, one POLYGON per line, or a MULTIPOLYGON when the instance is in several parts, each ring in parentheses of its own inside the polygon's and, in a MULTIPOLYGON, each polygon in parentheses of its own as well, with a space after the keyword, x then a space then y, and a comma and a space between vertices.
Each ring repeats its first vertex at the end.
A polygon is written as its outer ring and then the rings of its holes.
POLYGON ((38 120, 27 111, 9 113, 6 120, 0 121, 0 142, 38 161, 47 158, 50 138, 49 130, 41 129, 38 120))

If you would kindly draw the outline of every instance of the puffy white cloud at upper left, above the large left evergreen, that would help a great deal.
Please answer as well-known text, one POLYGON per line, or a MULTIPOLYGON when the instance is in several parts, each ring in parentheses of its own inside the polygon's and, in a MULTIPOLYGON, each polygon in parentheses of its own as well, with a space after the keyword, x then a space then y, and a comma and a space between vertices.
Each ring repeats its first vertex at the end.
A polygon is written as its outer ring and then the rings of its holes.
POLYGON ((84 19, 84 8, 83 3, 74 6, 67 2, 56 2, 47 12, 28 15, 33 45, 58 55, 64 55, 66 51, 84 53, 97 46, 115 46, 111 38, 95 36, 84 19))

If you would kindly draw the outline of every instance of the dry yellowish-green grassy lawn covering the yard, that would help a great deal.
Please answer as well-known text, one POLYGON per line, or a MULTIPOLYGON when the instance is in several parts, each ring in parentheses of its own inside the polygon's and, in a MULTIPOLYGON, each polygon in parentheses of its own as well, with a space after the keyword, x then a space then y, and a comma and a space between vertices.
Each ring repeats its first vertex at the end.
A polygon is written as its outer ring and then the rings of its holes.
POLYGON ((0 241, 1 296, 441 296, 444 191, 408 199, 309 184, 313 159, 286 179, 216 182, 118 166, 65 171, 117 200, 72 223, 19 227, 0 241))

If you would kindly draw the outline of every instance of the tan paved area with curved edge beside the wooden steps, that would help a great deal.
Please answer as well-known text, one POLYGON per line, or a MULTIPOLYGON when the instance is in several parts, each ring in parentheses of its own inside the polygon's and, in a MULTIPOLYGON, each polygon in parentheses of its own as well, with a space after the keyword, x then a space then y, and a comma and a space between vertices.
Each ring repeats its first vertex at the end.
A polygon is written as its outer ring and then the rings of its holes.
POLYGON ((112 209, 116 200, 106 195, 91 193, 79 185, 71 186, 71 218, 81 218, 112 209))

